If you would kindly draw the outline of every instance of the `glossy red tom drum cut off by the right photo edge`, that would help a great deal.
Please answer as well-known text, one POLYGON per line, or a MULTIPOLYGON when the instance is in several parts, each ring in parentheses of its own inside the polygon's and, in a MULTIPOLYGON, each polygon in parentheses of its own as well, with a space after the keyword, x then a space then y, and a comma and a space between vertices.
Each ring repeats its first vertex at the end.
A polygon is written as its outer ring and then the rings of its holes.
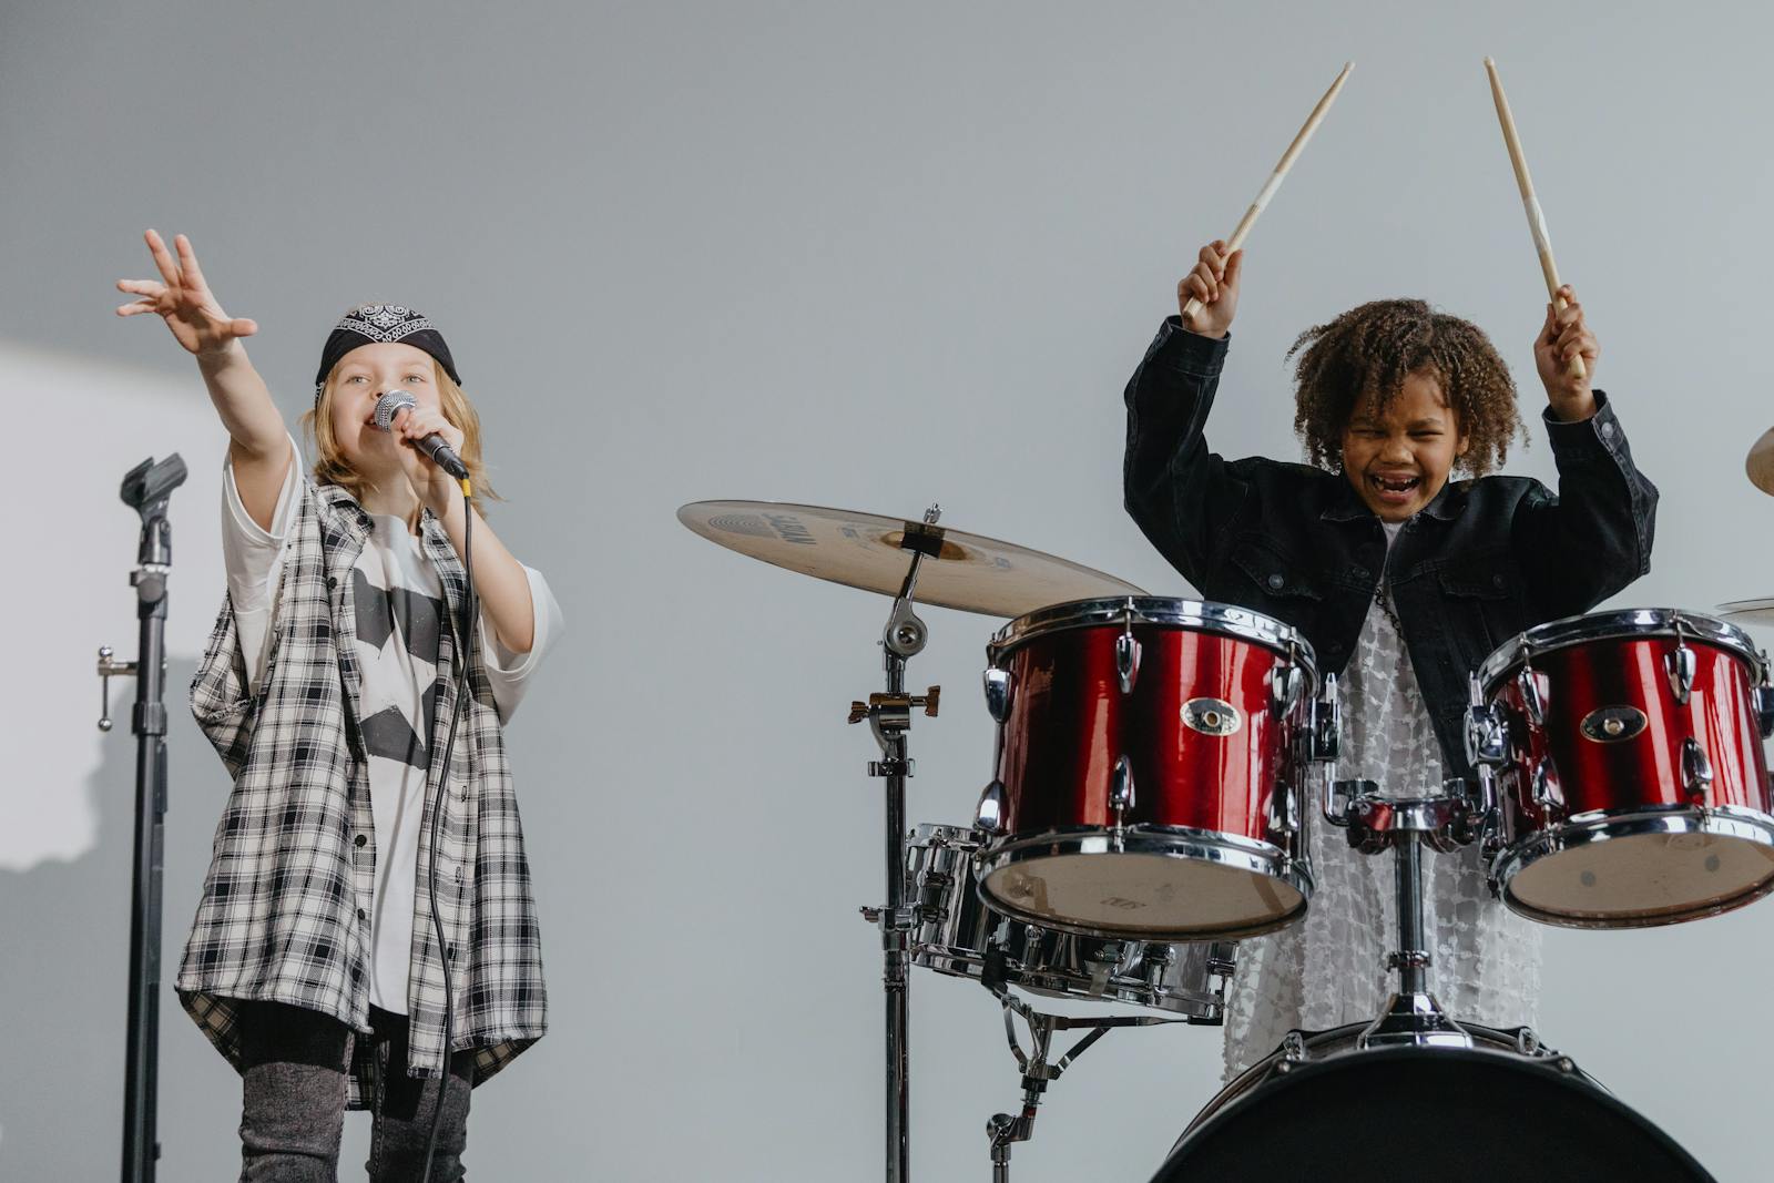
POLYGON ((1742 630, 1673 608, 1554 621, 1492 653, 1467 727, 1497 805, 1492 890, 1570 928, 1675 924, 1774 890, 1767 679, 1742 630))

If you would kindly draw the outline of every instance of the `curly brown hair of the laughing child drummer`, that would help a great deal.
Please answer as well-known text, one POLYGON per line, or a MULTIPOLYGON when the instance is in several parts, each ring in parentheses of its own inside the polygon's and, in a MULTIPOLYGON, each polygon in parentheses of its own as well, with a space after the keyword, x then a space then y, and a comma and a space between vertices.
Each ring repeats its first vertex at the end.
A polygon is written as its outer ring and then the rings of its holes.
POLYGON ((1435 312, 1423 300, 1375 300, 1329 325, 1307 328, 1288 349, 1293 367, 1293 431, 1318 468, 1341 472, 1343 431, 1355 408, 1373 399, 1384 411, 1409 374, 1440 383, 1469 447, 1455 470, 1481 477, 1501 466, 1517 435, 1515 380, 1478 325, 1435 312))

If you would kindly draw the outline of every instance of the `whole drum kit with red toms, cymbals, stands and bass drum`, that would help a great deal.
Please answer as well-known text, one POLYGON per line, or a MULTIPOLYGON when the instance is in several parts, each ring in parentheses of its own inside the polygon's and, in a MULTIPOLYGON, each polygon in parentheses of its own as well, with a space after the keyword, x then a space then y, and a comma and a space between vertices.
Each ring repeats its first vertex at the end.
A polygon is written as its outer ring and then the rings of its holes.
MULTIPOLYGON (((1751 479, 1774 493, 1774 431, 1756 449, 1751 479)), ((1472 672, 1476 780, 1387 791, 1338 779, 1336 678, 1258 612, 1148 596, 942 527, 937 507, 912 521, 694 502, 678 518, 892 598, 885 688, 850 711, 875 734, 869 775, 887 787, 887 897, 862 913, 882 935, 889 1183, 910 1178, 912 965, 1002 1006, 1022 1105, 986 1137, 1006 1183, 1047 1087, 1103 1034, 1224 1022, 1236 942, 1311 905, 1311 825, 1391 853, 1396 991, 1366 1023, 1290 1032, 1199 1112, 1153 1183, 1354 1178, 1334 1167, 1355 1162, 1370 1179, 1712 1178, 1531 1029, 1442 1011, 1421 876, 1425 848, 1476 842, 1503 905, 1590 929, 1694 921, 1774 890, 1774 676, 1737 624, 1637 608, 1527 630, 1472 672), (905 818, 912 717, 942 702, 937 686, 907 692, 928 640, 921 603, 1013 617, 986 644, 993 773, 965 825, 905 818), (1050 1015, 1040 999, 1100 1013, 1050 1015), (1059 1032, 1084 1034, 1056 1054, 1059 1032), (1425 1096, 1460 1098, 1458 1121, 1423 1121, 1425 1096)), ((1724 615, 1774 623, 1774 599, 1724 615)))

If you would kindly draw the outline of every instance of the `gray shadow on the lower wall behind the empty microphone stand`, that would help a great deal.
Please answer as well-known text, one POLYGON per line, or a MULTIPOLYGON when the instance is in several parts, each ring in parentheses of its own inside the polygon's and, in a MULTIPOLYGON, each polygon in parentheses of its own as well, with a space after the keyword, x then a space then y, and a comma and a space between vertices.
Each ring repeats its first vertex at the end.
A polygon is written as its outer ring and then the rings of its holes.
MULTIPOLYGON (((128 642, 133 649, 133 639, 128 642)), ((130 658, 124 646, 119 656, 130 658)), ((229 782, 186 708, 195 663, 167 667, 167 844, 160 1011, 160 1178, 239 1172, 239 1084, 172 993, 229 782)), ((114 686, 117 727, 87 782, 98 844, 73 862, 0 871, 0 1000, 11 1068, 0 1077, 0 1178, 115 1178, 122 1156, 130 892, 135 832, 135 683, 114 686), (117 702, 119 693, 126 699, 117 702)), ((90 709, 96 702, 82 702, 90 709)), ((32 775, 12 770, 12 775, 32 775)), ((53 782, 46 770, 37 770, 53 782)))

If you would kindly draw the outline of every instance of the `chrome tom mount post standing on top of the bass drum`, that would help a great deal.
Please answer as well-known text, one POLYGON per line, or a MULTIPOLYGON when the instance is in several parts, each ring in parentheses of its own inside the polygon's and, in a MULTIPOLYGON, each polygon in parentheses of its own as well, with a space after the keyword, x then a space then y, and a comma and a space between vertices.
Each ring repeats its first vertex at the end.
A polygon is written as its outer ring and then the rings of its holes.
POLYGON ((1325 821, 1348 830, 1348 844, 1377 855, 1387 848, 1394 855, 1398 899, 1398 949, 1385 958, 1398 970, 1398 990, 1361 1038, 1357 1048, 1375 1046, 1472 1046, 1472 1036, 1453 1022, 1430 993, 1432 965, 1423 931, 1423 848, 1451 851, 1478 837, 1476 825, 1490 811, 1483 789, 1474 802, 1465 780, 1442 786, 1446 796, 1380 796, 1373 780, 1325 782, 1325 821), (1345 802, 1341 809, 1339 802, 1345 802))

